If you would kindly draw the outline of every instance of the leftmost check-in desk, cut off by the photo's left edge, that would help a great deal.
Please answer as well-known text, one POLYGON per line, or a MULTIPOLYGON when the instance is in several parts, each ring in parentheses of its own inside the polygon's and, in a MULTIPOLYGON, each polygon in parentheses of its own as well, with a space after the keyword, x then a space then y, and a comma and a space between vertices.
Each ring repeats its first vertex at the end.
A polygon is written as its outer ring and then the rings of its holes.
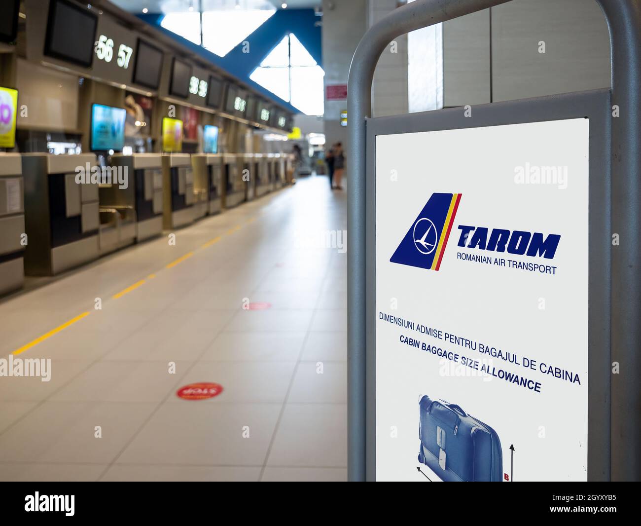
POLYGON ((24 283, 24 184, 19 153, 0 153, 0 294, 24 283))

